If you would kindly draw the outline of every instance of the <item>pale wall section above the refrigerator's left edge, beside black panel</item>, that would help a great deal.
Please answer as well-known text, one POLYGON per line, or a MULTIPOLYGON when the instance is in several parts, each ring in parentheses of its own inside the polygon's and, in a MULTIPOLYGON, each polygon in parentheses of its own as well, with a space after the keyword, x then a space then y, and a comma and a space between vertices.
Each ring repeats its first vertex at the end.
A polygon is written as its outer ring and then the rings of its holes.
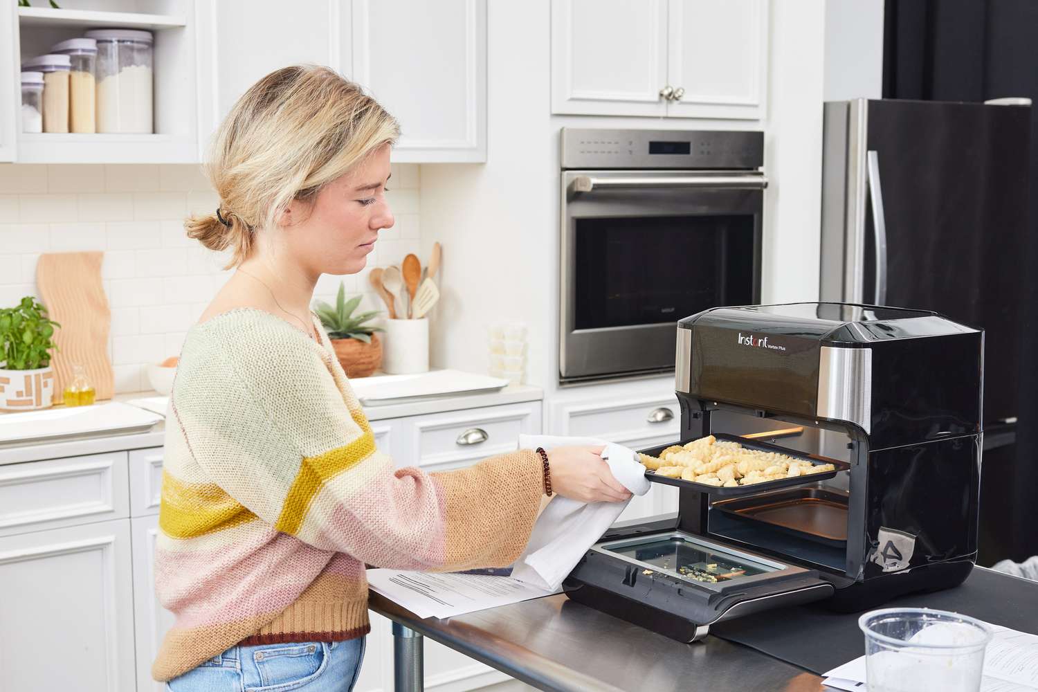
POLYGON ((825 101, 879 99, 883 0, 826 0, 825 101))

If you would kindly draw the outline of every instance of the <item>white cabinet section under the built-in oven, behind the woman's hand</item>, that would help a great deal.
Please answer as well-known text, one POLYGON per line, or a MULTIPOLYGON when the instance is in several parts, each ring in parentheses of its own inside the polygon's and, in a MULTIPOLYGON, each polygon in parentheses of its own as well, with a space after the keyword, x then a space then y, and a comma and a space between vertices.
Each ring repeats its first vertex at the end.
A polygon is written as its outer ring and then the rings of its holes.
MULTIPOLYGON (((549 435, 598 438, 637 450, 675 442, 681 411, 667 378, 564 390, 548 403, 545 418, 549 435)), ((677 510, 678 489, 652 483, 618 521, 677 510)))

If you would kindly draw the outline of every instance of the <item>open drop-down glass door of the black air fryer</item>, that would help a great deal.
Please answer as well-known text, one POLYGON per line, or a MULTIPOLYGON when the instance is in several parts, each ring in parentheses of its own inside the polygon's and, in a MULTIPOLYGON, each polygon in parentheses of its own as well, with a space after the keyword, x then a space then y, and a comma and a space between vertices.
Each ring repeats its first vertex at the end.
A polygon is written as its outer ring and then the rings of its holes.
POLYGON ((599 542, 563 588, 578 603, 686 642, 714 622, 834 592, 814 570, 677 530, 599 542))

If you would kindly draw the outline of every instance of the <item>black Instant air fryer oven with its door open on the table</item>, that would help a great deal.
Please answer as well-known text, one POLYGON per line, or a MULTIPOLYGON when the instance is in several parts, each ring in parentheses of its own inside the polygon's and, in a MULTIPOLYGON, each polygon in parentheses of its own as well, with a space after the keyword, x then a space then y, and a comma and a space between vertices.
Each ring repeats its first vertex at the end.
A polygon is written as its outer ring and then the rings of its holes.
POLYGON ((566 593, 693 641, 766 608, 854 611, 960 584, 977 556, 983 351, 981 330, 900 308, 682 320, 675 444, 713 435, 832 470, 732 488, 648 471, 681 489, 677 517, 611 528, 566 593))

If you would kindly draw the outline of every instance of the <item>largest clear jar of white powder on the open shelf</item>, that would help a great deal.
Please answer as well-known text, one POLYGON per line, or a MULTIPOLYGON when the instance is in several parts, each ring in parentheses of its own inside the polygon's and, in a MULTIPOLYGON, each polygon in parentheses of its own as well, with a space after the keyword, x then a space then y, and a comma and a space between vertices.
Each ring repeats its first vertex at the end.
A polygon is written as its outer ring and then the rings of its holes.
POLYGON ((98 43, 98 132, 154 132, 152 32, 93 29, 86 37, 98 43))

